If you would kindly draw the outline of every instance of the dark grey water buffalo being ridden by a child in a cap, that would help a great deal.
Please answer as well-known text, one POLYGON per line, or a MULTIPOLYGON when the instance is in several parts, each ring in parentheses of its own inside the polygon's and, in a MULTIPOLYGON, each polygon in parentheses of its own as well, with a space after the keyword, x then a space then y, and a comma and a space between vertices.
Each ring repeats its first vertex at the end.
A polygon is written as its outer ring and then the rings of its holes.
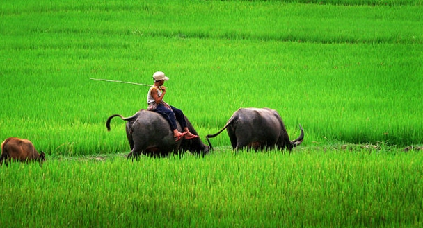
MULTIPOLYGON (((141 109, 134 116, 127 118, 119 114, 109 116, 106 121, 107 130, 110 130, 111 119, 116 116, 127 121, 126 132, 131 147, 128 158, 137 157, 139 154, 162 156, 169 155, 170 152, 190 151, 205 155, 209 152, 209 146, 202 143, 200 138, 175 141, 168 121, 157 112, 141 109)), ((198 134, 189 120, 186 117, 185 119, 189 131, 198 134)), ((183 132, 178 122, 177 128, 179 132, 183 132)))

